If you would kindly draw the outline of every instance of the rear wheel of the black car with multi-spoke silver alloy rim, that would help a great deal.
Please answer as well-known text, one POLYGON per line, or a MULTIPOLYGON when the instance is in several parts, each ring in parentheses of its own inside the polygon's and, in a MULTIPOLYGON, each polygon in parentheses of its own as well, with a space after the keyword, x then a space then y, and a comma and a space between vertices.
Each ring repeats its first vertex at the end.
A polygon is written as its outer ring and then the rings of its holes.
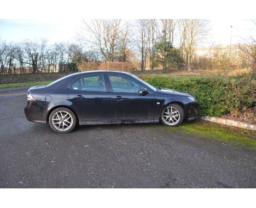
POLYGON ((50 114, 49 124, 51 129, 57 133, 68 133, 74 129, 77 118, 68 108, 56 108, 50 114))

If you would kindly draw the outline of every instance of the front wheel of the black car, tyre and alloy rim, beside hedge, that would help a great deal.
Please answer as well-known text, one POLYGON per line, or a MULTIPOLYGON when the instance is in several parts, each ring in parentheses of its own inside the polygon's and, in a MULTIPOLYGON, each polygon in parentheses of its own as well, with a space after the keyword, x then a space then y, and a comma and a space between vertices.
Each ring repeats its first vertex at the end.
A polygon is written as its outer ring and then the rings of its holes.
POLYGON ((160 121, 165 126, 179 126, 185 117, 184 109, 177 103, 171 103, 162 109, 160 121))

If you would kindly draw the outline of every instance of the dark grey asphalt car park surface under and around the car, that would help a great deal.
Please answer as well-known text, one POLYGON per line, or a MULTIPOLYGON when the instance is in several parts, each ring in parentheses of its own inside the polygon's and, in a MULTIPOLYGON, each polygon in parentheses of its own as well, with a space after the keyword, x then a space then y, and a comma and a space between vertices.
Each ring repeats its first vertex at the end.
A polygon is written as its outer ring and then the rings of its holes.
POLYGON ((256 151, 161 124, 57 134, 0 90, 0 188, 256 188, 256 151))

